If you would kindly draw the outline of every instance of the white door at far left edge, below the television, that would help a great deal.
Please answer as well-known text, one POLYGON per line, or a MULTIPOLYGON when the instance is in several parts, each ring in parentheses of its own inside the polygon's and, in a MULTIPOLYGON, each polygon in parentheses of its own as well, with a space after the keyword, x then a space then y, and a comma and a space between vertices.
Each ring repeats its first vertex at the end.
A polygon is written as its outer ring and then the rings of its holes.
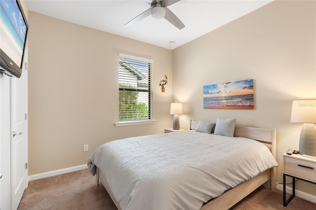
POLYGON ((0 210, 11 209, 10 77, 0 73, 0 210))

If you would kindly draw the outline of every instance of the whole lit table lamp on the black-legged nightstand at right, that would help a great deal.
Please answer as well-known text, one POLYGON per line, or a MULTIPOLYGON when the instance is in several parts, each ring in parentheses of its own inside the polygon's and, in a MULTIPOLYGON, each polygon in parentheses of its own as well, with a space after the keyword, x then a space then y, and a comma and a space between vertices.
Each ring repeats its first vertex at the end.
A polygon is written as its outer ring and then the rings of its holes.
POLYGON ((292 123, 304 123, 299 143, 299 153, 316 157, 316 99, 292 102, 292 123))

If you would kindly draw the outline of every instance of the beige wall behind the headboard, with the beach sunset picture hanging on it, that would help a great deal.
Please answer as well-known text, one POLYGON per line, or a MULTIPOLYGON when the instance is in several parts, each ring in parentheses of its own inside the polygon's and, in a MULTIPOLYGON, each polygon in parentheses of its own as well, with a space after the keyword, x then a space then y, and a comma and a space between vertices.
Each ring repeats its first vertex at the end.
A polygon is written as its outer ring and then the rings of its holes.
MULTIPOLYGON (((292 100, 316 98, 315 29, 316 1, 274 1, 173 50, 173 99, 184 103, 182 125, 237 117, 239 125, 276 128, 282 183, 282 154, 298 148, 302 127, 290 123, 292 100), (203 109, 203 85, 244 79, 254 79, 253 110, 203 109)), ((297 184, 316 195, 315 185, 297 184)))

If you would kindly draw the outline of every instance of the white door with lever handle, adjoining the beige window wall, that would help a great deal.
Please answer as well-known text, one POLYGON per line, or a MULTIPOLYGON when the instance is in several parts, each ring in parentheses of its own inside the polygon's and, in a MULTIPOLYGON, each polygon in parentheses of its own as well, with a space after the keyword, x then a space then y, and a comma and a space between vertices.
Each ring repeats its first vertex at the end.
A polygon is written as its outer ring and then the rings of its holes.
POLYGON ((27 173, 27 52, 22 75, 11 80, 11 207, 16 210, 28 185, 27 173))

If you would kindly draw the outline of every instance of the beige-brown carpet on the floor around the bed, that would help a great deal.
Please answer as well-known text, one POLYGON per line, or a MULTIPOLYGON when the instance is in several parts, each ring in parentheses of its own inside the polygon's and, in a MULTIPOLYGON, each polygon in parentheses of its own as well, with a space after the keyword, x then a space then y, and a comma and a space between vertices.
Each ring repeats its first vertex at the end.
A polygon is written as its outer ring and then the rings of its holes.
MULTIPOLYGON (((116 210, 95 176, 86 170, 30 181, 18 210, 116 210)), ((316 210, 316 204, 295 197, 285 208, 282 191, 260 187, 231 210, 316 210)))

